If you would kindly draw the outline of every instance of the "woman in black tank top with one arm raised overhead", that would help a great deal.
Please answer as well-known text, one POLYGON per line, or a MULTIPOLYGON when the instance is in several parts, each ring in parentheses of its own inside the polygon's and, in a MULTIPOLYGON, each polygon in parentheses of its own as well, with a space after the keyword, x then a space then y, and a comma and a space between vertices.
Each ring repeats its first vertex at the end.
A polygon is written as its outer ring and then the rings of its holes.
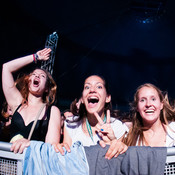
POLYGON ((29 146, 30 139, 53 145, 60 141, 61 115, 59 109, 52 105, 57 88, 52 76, 46 70, 36 68, 30 74, 17 79, 17 86, 13 78, 13 72, 24 66, 49 59, 50 52, 50 48, 45 48, 36 54, 3 64, 2 87, 13 113, 11 150, 14 152, 23 152, 29 146))

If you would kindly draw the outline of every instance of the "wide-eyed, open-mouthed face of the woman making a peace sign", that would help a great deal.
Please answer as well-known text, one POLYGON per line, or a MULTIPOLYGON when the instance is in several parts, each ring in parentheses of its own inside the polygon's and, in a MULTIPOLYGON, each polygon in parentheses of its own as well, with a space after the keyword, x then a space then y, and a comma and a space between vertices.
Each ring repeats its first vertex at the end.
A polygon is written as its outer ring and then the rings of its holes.
POLYGON ((110 101, 111 96, 107 94, 105 82, 102 78, 93 75, 85 80, 82 103, 84 103, 87 113, 102 113, 105 103, 110 101))

